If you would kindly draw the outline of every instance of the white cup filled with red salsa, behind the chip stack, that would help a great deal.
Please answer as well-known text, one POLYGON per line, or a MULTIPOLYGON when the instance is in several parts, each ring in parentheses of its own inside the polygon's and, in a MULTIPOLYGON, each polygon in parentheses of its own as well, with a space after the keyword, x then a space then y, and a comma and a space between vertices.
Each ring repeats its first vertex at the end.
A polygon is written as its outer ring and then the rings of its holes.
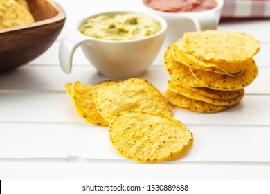
POLYGON ((163 17, 168 24, 163 47, 187 31, 217 30, 224 0, 141 0, 143 10, 163 17))

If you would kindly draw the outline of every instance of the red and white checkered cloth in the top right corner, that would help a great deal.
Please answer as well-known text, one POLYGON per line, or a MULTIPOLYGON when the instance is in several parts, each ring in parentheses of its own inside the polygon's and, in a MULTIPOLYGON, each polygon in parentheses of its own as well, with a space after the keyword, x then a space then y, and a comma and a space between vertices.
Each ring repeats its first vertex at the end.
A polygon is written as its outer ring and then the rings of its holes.
POLYGON ((222 19, 270 18, 270 0, 224 0, 222 19))

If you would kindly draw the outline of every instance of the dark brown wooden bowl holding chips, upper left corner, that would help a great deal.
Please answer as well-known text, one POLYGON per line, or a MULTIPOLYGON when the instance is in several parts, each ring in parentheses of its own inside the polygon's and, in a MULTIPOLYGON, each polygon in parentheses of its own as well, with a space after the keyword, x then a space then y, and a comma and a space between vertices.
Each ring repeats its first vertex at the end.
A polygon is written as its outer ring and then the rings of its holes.
POLYGON ((28 0, 35 23, 0 30, 0 71, 19 67, 44 53, 64 26, 66 13, 53 0, 28 0))

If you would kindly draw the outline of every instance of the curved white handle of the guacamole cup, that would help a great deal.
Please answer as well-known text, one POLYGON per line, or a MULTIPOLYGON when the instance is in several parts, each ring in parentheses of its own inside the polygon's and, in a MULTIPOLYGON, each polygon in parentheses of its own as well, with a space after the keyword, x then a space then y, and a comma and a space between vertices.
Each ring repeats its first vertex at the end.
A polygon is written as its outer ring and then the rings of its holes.
POLYGON ((73 54, 78 46, 93 42, 89 37, 73 30, 62 39, 59 49, 60 66, 64 73, 71 73, 73 54))

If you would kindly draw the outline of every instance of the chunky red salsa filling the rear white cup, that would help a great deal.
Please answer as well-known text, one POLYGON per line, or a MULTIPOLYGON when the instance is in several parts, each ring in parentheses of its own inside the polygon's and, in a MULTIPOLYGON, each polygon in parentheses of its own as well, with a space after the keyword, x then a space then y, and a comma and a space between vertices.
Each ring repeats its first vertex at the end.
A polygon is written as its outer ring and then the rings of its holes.
POLYGON ((145 0, 144 3, 162 12, 200 12, 217 6, 215 0, 145 0))

